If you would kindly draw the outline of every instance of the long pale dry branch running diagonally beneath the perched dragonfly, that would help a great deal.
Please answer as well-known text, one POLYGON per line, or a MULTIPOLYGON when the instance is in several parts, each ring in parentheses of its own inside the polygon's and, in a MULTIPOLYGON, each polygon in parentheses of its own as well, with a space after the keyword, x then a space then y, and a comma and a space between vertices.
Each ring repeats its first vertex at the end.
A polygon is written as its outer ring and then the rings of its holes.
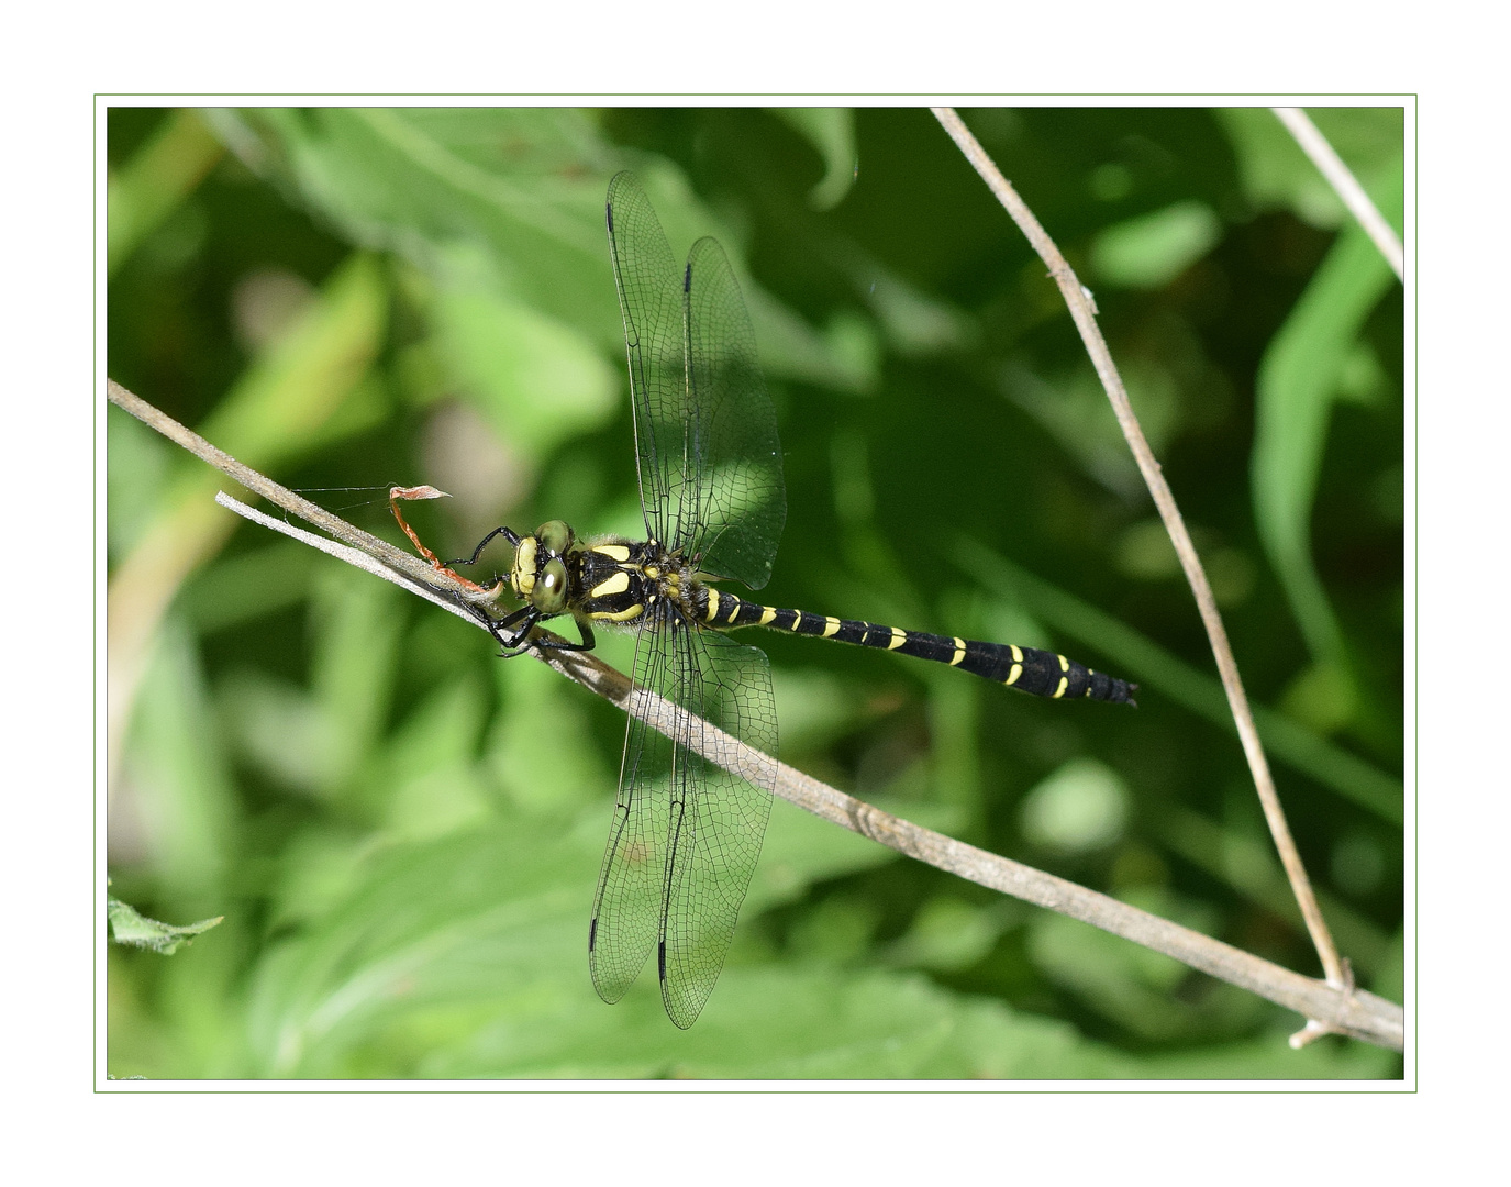
MULTIPOLYGON (((332 556, 357 564, 387 581, 411 588, 482 629, 482 623, 456 602, 456 590, 450 588, 452 582, 431 566, 419 563, 416 558, 393 549, 385 541, 352 528, 328 511, 299 499, 277 482, 246 469, 234 458, 210 446, 204 439, 189 432, 181 425, 177 425, 177 422, 115 384, 110 386, 110 399, 133 414, 139 414, 139 408, 150 413, 150 416, 142 416, 147 423, 159 428, 159 431, 175 442, 187 442, 186 448, 192 448, 198 457, 234 475, 242 485, 257 490, 280 507, 286 507, 295 511, 295 514, 302 514, 302 511, 296 510, 299 505, 311 508, 319 514, 319 526, 340 540, 349 541, 351 547, 311 537, 299 528, 254 511, 225 494, 216 499, 222 507, 254 519, 284 535, 304 540, 332 556), (372 549, 367 541, 379 547, 372 549), (388 566, 390 555, 403 563, 394 566, 402 572, 379 572, 388 566), (378 561, 376 567, 372 561, 378 561)), ((671 735, 677 715, 686 712, 647 690, 636 688, 624 673, 610 668, 591 652, 535 649, 532 653, 561 674, 597 693, 662 733, 671 735)), ((1404 1046, 1404 1012, 1399 1006, 1384 998, 1360 990, 1343 992, 1334 989, 1322 981, 1302 977, 1298 972, 1280 968, 1268 960, 1260 960, 1256 956, 1203 936, 1198 931, 1130 907, 1115 898, 1088 891, 1073 882, 1065 882, 1053 874, 1046 874, 1032 866, 999 857, 994 853, 987 853, 941 833, 931 832, 929 829, 922 829, 917 824, 893 817, 888 812, 882 812, 827 786, 707 723, 701 723, 694 730, 678 730, 677 736, 698 739, 698 752, 707 761, 751 779, 757 785, 774 785, 777 795, 789 803, 863 836, 869 836, 898 853, 916 857, 920 862, 969 879, 981 886, 1014 895, 1026 903, 1080 919, 1154 951, 1165 953, 1194 969, 1292 1009, 1304 1018, 1318 1019, 1328 1030, 1349 1034, 1393 1051, 1401 1051, 1404 1046)))

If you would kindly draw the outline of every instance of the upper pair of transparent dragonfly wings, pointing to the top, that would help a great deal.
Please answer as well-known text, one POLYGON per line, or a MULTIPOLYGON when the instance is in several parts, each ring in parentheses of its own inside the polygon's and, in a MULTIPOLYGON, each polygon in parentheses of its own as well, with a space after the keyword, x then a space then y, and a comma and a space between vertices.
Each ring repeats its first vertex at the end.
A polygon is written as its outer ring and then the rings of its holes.
POLYGON ((704 572, 759 590, 786 519, 777 416, 722 248, 678 268, 632 174, 609 183, 609 253, 624 318, 645 529, 704 572))

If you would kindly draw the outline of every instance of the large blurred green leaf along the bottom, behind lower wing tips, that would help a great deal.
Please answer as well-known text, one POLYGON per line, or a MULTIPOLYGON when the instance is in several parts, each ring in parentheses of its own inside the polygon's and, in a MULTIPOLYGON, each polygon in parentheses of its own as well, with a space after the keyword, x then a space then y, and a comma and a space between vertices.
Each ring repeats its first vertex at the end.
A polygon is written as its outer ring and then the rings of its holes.
MULTIPOLYGON (((796 857, 775 821, 774 865, 796 857)), ((816 823, 817 824, 817 823, 816 823)), ((1126 1075, 1071 1028, 911 974, 751 965, 737 944, 691 1031, 647 968, 592 995, 585 927, 601 810, 568 833, 523 820, 375 856, 358 889, 286 941, 252 986, 255 1075, 973 1077, 1126 1075)), ((820 824, 836 838, 848 835, 820 824)), ((840 847, 891 854, 858 838, 840 847)), ((810 863, 811 865, 811 863, 810 863)), ((817 865, 836 872, 840 865, 817 865)), ((817 866, 813 866, 817 868, 817 866)), ((746 922, 751 924, 749 907, 746 922)))

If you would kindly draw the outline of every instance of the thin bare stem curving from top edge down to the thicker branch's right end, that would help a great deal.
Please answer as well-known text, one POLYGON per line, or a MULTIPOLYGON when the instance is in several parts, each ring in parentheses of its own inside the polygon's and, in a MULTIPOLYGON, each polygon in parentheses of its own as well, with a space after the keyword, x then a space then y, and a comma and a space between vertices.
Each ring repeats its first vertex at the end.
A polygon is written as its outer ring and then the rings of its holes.
MULTIPOLYGON (((955 144, 959 145, 961 153, 966 154, 966 159, 970 160, 976 172, 991 188, 991 192, 1006 207, 1012 221, 1027 236, 1040 259, 1049 266, 1050 275, 1055 278, 1061 295, 1065 298, 1065 304, 1070 307, 1070 316, 1076 321, 1076 328, 1080 331, 1086 352, 1091 355, 1092 366, 1095 366, 1108 399, 1112 402, 1112 411, 1123 428, 1123 437, 1127 440, 1135 461, 1138 461, 1144 482, 1154 497, 1154 507, 1159 508, 1159 517, 1165 522, 1165 531, 1170 532, 1176 553, 1180 556, 1180 567, 1186 572, 1186 581, 1195 594, 1197 609, 1201 614, 1201 623, 1206 626, 1212 655, 1216 658, 1218 673, 1222 677, 1222 688, 1227 691, 1228 706, 1233 711, 1239 739, 1244 744, 1244 755, 1254 777, 1254 788, 1259 792, 1259 801, 1269 824, 1269 835, 1275 841, 1275 850, 1280 853, 1281 865, 1286 868, 1286 877, 1290 880, 1292 894, 1296 897, 1301 916, 1306 919, 1307 931, 1312 934, 1312 944, 1322 960, 1322 971, 1327 974, 1328 984, 1346 989, 1349 978, 1343 962, 1339 959, 1337 947, 1333 944, 1333 934, 1328 931, 1327 921, 1322 918, 1322 910, 1318 907, 1312 882, 1307 879, 1301 854, 1296 851, 1295 841, 1290 836, 1290 827, 1286 824, 1286 814, 1280 806, 1280 795, 1275 792, 1275 782, 1269 773, 1265 748, 1259 741, 1259 730, 1254 726, 1254 715, 1244 693, 1244 682, 1238 674, 1238 662, 1233 659, 1233 649, 1228 646, 1227 629, 1222 626, 1222 615, 1218 612, 1216 599, 1212 596, 1207 575, 1197 556, 1195 546, 1191 543, 1191 534, 1180 517, 1180 510, 1176 507, 1176 496, 1171 493, 1170 484, 1165 482, 1160 464, 1154 460, 1154 452, 1144 439, 1144 429, 1139 428, 1138 417, 1133 416, 1133 407, 1129 404, 1123 378, 1112 361, 1112 352, 1108 349, 1106 339, 1102 337, 1102 330, 1097 328, 1095 308, 1091 304, 1089 293, 1074 271, 1071 271, 1059 248, 1055 246, 1055 240, 1049 237, 1038 219, 1034 218, 1034 212, 1017 195, 1017 191, 1008 184, 1008 180, 997 169, 996 163, 993 163, 991 157, 987 156, 987 151, 976 138, 970 135, 959 115, 952 107, 935 107, 934 115, 944 126, 944 130, 955 144)), ((1316 1019, 1315 1015, 1310 1018, 1322 1021, 1316 1019)))

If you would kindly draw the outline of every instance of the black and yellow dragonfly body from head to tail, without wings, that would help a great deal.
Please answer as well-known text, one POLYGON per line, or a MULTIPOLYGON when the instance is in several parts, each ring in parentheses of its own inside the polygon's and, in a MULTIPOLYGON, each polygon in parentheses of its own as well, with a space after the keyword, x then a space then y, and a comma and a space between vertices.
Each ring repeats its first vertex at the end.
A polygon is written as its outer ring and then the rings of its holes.
MULTIPOLYGON (((555 552, 538 537, 524 537, 515 550, 514 573, 509 578, 511 587, 523 600, 530 600, 536 575, 556 556, 565 563, 567 572, 564 608, 559 612, 570 612, 583 624, 585 646, 591 646, 594 624, 635 629, 666 618, 674 629, 731 631, 740 626, 765 626, 769 631, 790 631, 796 635, 878 647, 949 664, 1037 697, 1135 703, 1132 691, 1136 685, 1092 671, 1055 652, 929 635, 922 631, 746 602, 709 585, 694 566, 654 540, 632 541, 623 537, 601 537, 583 543, 573 540, 562 552, 555 552)), ((517 647, 523 643, 523 634, 517 641, 502 641, 517 647)))

